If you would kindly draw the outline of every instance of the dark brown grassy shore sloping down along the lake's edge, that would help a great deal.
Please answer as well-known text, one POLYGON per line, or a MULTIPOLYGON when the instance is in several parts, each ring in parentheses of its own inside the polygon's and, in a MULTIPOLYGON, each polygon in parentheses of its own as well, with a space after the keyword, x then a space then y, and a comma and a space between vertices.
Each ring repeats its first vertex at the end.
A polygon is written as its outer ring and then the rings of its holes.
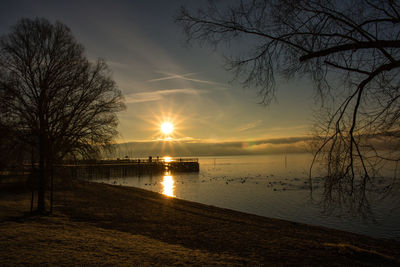
POLYGON ((0 265, 399 265, 391 240, 249 215, 137 188, 74 182, 51 216, 0 186, 0 265))

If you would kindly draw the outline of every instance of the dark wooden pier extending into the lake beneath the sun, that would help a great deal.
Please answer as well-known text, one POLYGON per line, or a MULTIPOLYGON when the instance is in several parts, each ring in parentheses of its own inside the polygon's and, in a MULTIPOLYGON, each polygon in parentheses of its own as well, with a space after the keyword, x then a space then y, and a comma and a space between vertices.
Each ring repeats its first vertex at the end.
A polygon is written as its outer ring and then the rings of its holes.
POLYGON ((57 169, 70 172, 72 177, 96 179, 162 174, 168 172, 198 172, 197 158, 136 158, 64 162, 57 169))

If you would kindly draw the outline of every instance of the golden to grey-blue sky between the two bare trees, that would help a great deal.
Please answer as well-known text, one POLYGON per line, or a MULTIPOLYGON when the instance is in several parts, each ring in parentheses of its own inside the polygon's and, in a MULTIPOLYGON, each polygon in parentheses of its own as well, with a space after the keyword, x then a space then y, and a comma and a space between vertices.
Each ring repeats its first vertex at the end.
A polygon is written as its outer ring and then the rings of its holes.
MULTIPOLYGON (((277 101, 259 104, 224 68, 227 47, 187 45, 173 16, 207 1, 2 1, 0 34, 20 18, 44 17, 66 24, 90 60, 104 59, 125 97, 117 142, 263 144, 309 134, 314 106, 307 81, 277 81, 277 101)), ((246 40, 242 40, 246 45, 246 40)), ((297 139, 293 139, 297 138, 297 139)), ((195 149, 195 148, 193 148, 195 149)), ((263 149, 265 150, 265 148, 263 149)), ((192 153, 193 154, 193 153, 192 153)))

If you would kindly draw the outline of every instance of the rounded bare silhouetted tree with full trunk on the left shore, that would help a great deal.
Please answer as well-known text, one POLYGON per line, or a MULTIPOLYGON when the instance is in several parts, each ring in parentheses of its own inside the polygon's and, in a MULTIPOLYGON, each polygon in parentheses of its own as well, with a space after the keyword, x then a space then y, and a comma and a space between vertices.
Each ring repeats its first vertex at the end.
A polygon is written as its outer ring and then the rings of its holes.
POLYGON ((39 159, 39 212, 53 164, 109 144, 124 108, 105 62, 90 62, 67 26, 46 19, 22 19, 1 38, 0 98, 3 124, 39 159))

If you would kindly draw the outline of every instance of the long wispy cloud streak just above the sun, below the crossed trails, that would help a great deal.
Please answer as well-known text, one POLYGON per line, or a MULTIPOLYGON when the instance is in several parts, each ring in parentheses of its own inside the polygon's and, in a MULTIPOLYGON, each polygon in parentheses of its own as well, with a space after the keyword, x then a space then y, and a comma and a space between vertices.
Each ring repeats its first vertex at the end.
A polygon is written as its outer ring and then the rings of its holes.
POLYGON ((186 95, 198 95, 205 93, 205 90, 194 89, 194 88, 180 88, 180 89, 167 89, 157 90, 151 92, 134 93, 125 96, 126 103, 142 103, 161 100, 164 96, 172 94, 186 94, 186 95))

